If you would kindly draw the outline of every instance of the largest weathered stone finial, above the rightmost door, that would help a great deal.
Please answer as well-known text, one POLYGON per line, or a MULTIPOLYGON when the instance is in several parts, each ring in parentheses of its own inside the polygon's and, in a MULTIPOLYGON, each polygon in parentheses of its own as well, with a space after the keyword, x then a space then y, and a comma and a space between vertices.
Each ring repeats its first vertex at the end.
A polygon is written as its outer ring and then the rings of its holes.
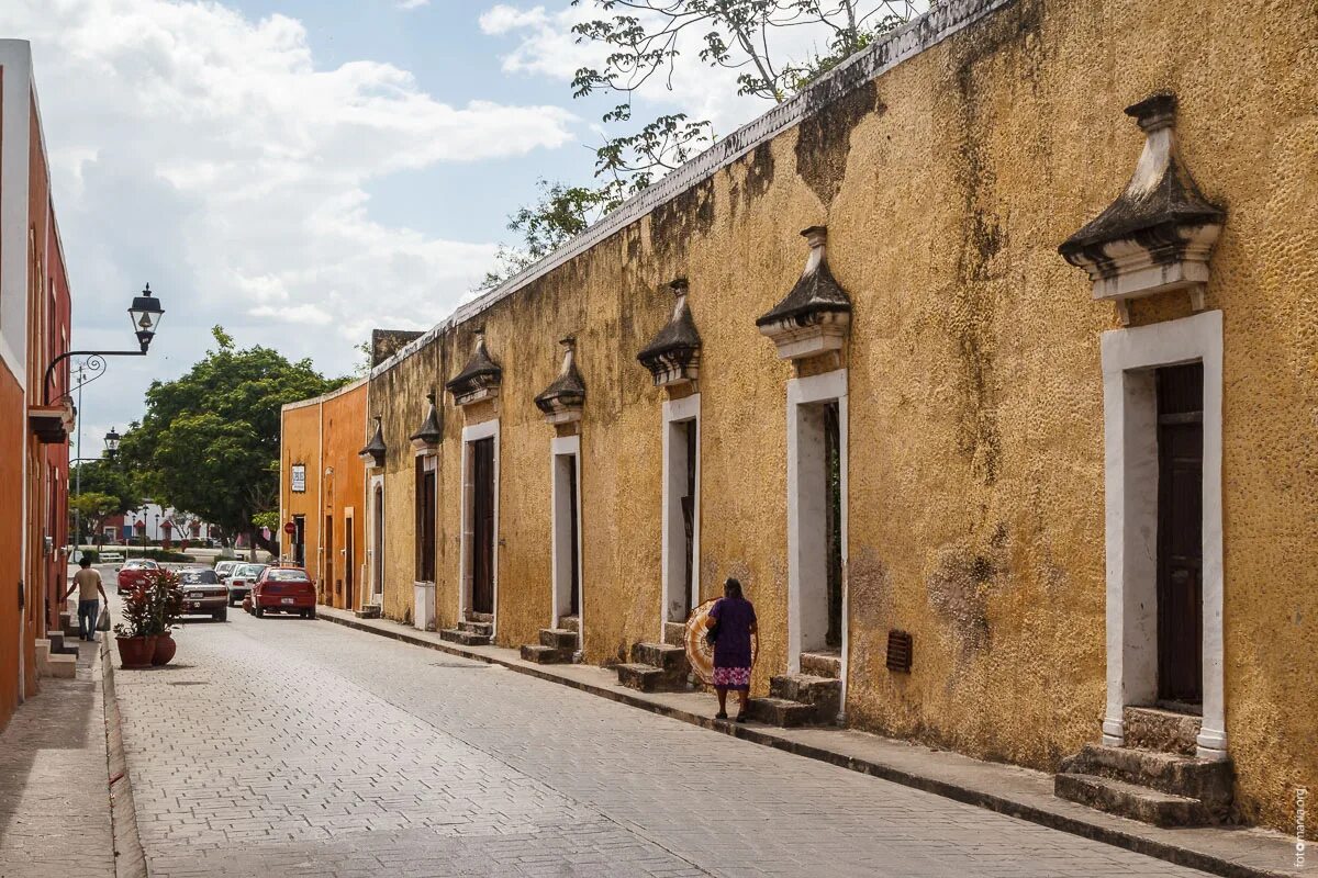
POLYGON ((1145 134, 1144 151, 1126 191, 1058 251, 1085 269, 1094 299, 1116 303, 1130 323, 1130 300, 1188 290, 1203 308, 1209 255, 1224 212, 1199 192, 1176 142, 1176 96, 1153 95, 1126 109, 1145 134))

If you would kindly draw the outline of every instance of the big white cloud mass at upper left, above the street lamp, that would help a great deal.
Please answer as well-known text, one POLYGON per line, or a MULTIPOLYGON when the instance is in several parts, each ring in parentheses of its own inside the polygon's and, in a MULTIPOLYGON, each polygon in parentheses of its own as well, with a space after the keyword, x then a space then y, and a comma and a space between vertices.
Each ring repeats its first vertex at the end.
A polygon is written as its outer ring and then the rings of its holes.
POLYGON ((166 303, 125 379, 186 367, 214 323, 327 371, 373 325, 432 325, 496 247, 384 225, 366 188, 577 142, 560 107, 453 105, 389 63, 318 67, 299 21, 214 1, 4 0, 0 33, 33 42, 75 342, 123 344, 144 279, 166 303))

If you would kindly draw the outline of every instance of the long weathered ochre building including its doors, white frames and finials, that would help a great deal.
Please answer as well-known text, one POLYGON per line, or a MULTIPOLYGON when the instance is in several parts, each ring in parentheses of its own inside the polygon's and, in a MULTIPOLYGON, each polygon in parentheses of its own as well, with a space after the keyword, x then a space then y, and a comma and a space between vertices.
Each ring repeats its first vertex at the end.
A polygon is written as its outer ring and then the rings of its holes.
POLYGON ((768 720, 1293 829, 1315 46, 1305 0, 940 4, 372 370, 362 594, 680 686, 737 577, 768 720))

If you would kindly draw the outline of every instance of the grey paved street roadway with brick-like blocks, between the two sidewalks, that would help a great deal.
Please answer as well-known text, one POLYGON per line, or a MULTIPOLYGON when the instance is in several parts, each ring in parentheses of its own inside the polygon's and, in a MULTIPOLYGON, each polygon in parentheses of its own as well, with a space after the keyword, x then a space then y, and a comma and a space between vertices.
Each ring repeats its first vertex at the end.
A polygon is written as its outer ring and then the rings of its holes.
POLYGON ((119 671, 152 874, 1194 875, 323 621, 119 671))

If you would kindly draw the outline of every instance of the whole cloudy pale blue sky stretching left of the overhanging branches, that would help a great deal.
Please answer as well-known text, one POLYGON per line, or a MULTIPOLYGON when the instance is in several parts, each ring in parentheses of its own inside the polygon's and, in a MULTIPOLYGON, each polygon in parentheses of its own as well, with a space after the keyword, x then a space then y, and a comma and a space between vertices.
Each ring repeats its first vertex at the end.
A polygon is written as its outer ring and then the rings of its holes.
MULTIPOLYGON (((144 282, 166 308, 150 355, 111 361, 87 388, 83 455, 141 416, 153 378, 203 354, 214 324, 347 374, 373 326, 424 329, 469 297, 536 179, 590 178, 606 101, 569 88, 590 51, 569 26, 587 12, 0 3, 0 37, 33 43, 75 346, 129 346, 124 309, 144 282)), ((689 68, 638 117, 660 108, 725 134, 767 105, 689 68)))

